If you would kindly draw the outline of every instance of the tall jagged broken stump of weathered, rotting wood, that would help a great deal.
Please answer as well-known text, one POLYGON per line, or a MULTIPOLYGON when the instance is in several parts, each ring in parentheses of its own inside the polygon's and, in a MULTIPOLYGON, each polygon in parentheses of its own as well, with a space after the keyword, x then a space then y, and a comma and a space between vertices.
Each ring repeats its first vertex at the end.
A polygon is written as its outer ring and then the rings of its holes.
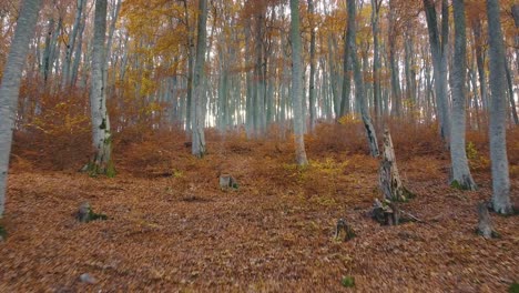
POLYGON ((403 202, 406 201, 407 195, 409 195, 409 192, 401 184, 391 134, 387 128, 384 131, 384 151, 380 162, 378 183, 385 200, 403 202))

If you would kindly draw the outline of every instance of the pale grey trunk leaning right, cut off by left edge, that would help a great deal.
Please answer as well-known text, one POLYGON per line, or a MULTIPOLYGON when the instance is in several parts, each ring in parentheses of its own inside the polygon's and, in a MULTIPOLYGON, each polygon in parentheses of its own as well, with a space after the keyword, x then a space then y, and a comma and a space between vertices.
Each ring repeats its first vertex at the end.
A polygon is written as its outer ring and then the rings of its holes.
POLYGON ((12 131, 18 109, 18 95, 23 65, 29 53, 29 42, 34 32, 40 11, 40 0, 24 0, 18 17, 14 38, 0 84, 0 218, 6 209, 9 155, 11 154, 12 131))

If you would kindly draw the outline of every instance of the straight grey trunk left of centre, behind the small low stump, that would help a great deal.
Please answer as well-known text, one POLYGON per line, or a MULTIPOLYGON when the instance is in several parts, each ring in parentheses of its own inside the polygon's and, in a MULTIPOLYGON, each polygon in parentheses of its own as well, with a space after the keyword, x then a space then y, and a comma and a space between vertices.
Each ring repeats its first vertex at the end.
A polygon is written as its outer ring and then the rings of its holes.
POLYGON ((192 124, 192 153, 199 158, 205 154, 205 135, 204 135, 204 67, 205 67, 205 50, 207 41, 207 0, 199 1, 199 26, 196 36, 196 57, 193 80, 193 97, 191 100, 191 124, 192 124))

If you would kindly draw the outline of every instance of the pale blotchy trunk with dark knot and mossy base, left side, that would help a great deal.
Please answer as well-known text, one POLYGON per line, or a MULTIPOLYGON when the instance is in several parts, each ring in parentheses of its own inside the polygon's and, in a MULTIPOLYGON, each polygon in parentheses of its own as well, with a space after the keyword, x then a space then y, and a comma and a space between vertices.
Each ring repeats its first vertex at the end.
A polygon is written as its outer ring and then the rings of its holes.
POLYGON ((90 85, 90 111, 92 118, 92 143, 94 158, 89 165, 91 174, 114 175, 112 164, 112 134, 106 109, 104 84, 106 0, 95 1, 95 23, 92 44, 92 78, 90 85))

